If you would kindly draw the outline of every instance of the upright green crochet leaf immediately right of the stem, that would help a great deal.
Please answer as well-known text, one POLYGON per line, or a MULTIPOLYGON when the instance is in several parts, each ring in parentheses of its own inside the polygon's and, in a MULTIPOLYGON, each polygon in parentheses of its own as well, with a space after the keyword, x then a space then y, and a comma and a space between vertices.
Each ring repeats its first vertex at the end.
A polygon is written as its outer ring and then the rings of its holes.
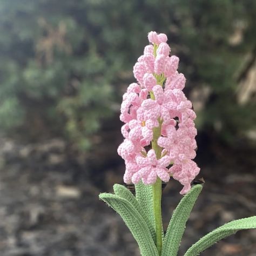
POLYGON ((174 210, 164 238, 162 256, 177 255, 186 222, 202 188, 200 184, 193 186, 174 210))

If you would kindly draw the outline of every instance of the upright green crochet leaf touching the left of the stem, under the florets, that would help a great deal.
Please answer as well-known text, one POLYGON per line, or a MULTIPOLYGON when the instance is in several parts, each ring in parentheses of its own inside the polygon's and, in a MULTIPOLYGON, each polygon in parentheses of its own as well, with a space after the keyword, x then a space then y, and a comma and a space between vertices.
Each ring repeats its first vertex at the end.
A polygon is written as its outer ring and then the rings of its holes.
POLYGON ((139 184, 135 185, 135 191, 137 201, 139 202, 140 206, 142 206, 152 226, 156 227, 156 222, 154 221, 152 185, 144 185, 140 181, 139 184))

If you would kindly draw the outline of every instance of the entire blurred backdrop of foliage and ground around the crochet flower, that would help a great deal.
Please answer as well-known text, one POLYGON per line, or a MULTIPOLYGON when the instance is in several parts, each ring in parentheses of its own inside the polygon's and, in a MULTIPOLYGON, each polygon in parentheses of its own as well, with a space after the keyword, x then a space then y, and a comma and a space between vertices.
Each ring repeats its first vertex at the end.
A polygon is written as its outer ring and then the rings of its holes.
MULTIPOLYGON (((204 191, 179 255, 256 214, 254 0, 0 0, 0 252, 139 255, 98 200, 123 183, 119 108, 151 30, 166 33, 197 113, 204 191)), ((163 192, 164 228, 181 196, 163 192)), ((201 255, 256 255, 241 231, 201 255)))

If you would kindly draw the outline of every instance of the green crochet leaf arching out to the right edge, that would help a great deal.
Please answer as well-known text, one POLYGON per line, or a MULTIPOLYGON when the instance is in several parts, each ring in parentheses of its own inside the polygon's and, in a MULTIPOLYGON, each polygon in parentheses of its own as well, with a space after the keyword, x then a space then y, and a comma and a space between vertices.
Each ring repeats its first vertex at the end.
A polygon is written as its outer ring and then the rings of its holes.
POLYGON ((236 233, 239 230, 248 230, 256 228, 256 216, 233 220, 221 227, 216 228, 211 233, 202 237, 196 244, 192 245, 184 256, 196 256, 203 252, 208 247, 211 247, 215 242, 236 233))

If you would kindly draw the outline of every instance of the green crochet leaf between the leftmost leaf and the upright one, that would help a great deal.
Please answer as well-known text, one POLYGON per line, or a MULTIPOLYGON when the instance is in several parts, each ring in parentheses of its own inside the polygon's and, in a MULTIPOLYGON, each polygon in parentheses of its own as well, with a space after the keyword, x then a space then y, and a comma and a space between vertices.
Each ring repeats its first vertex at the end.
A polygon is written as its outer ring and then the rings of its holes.
POLYGON ((136 208, 136 210, 140 213, 140 215, 142 215, 143 219, 146 221, 147 226, 149 227, 151 237, 153 238, 154 242, 156 242, 156 230, 155 230, 154 226, 152 225, 152 222, 147 217, 142 206, 140 206, 139 202, 133 196, 131 191, 128 190, 125 186, 122 186, 120 184, 114 184, 113 188, 114 188, 114 193, 117 196, 122 197, 122 198, 126 199, 127 201, 129 201, 133 205, 133 207, 136 208))

